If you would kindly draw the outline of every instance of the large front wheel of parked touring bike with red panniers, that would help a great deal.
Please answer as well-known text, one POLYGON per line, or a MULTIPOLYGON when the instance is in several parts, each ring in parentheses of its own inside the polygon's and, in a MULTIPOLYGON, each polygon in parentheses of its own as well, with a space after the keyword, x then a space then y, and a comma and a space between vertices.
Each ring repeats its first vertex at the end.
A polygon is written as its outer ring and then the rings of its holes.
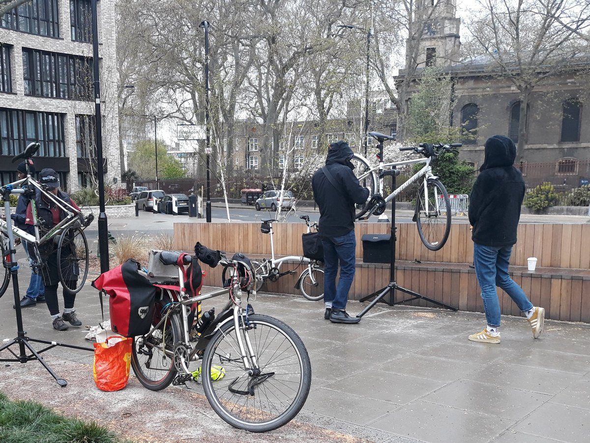
POLYGON ((238 334, 250 337, 257 361, 251 365, 254 369, 244 367, 230 321, 209 341, 202 362, 204 374, 211 373, 212 366, 217 371, 222 366, 225 375, 215 382, 203 377, 203 389, 211 407, 227 423, 245 431, 266 432, 289 422, 303 407, 312 367, 301 338, 288 325, 268 315, 252 314, 248 320, 238 334))

